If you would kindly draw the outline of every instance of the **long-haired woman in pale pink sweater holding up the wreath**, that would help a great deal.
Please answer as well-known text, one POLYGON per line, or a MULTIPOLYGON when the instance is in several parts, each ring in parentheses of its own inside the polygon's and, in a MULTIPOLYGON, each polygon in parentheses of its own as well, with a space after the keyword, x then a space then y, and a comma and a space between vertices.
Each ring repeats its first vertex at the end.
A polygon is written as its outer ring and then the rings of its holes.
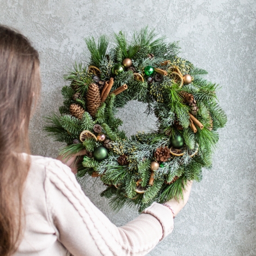
POLYGON ((183 201, 154 203, 118 228, 81 190, 68 167, 75 156, 63 164, 61 156, 62 162, 29 155, 39 56, 25 36, 4 26, 0 90, 0 255, 145 255, 173 230, 174 215, 186 204, 192 182, 183 201))

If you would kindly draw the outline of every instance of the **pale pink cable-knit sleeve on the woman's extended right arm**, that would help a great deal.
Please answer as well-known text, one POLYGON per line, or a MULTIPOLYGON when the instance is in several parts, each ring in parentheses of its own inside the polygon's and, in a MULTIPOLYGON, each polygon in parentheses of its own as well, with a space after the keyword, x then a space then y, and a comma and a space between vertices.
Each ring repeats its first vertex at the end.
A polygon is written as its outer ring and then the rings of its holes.
POLYGON ((170 210, 157 203, 123 227, 115 226, 58 160, 47 164, 44 187, 48 220, 74 256, 145 255, 173 230, 170 210))

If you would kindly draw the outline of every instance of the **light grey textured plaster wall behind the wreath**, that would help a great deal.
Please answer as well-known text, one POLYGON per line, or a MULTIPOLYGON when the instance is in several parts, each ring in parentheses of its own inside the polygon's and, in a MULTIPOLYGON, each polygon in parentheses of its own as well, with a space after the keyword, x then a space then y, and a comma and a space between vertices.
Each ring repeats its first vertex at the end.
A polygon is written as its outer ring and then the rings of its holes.
MULTIPOLYGON (((40 52, 42 97, 31 124, 33 154, 57 155, 60 144, 42 133, 42 116, 62 103, 62 76, 71 63, 84 58, 85 36, 149 25, 170 41, 179 40, 181 56, 208 70, 209 80, 223 86, 217 95, 228 124, 220 132, 212 170, 205 170, 203 181, 193 185, 173 233, 148 255, 256 255, 255 0, 0 3, 0 23, 20 29, 40 52)), ((132 102, 122 111, 130 134, 154 126, 154 117, 143 115, 143 108, 132 102)), ((91 180, 84 190, 115 224, 137 215, 112 212, 107 200, 98 196, 101 188, 91 180)))

